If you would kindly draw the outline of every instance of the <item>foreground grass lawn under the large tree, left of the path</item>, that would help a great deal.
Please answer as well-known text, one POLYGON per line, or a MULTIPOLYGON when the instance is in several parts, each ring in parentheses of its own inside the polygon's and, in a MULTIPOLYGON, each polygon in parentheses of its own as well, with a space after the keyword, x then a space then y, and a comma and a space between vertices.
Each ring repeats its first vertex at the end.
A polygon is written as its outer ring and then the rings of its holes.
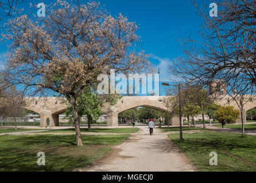
POLYGON ((121 144, 129 134, 82 136, 83 147, 77 147, 76 136, 0 136, 0 171, 72 171, 85 168, 110 152, 111 145, 121 144), (45 166, 38 166, 38 152, 45 153, 45 166))

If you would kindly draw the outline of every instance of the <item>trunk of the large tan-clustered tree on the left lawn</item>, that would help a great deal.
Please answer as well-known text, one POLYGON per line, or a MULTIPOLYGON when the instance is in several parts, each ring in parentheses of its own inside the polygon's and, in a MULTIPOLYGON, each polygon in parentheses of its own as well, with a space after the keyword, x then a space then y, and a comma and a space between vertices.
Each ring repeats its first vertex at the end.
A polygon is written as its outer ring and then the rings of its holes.
POLYGON ((77 146, 83 146, 82 138, 81 138, 81 132, 80 132, 80 118, 77 111, 77 104, 76 104, 76 98, 71 98, 71 104, 73 108, 73 117, 74 117, 74 125, 76 130, 76 145, 77 146))

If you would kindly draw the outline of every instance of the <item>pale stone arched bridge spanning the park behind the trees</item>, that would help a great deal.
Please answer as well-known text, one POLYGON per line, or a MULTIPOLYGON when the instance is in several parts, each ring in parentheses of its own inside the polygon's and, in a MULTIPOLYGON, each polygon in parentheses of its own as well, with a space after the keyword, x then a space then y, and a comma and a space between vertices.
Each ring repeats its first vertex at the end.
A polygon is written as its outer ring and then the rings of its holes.
MULTIPOLYGON (((155 96, 146 96, 146 97, 122 97, 121 100, 117 102, 114 106, 105 106, 103 108, 104 113, 107 114, 107 126, 118 126, 118 114, 132 108, 143 106, 146 108, 151 108, 155 110, 167 111, 167 108, 164 102, 159 100, 164 100, 165 97, 155 97, 155 96)), ((230 101, 229 97, 226 96, 222 100, 216 101, 216 104, 225 106, 231 105, 236 109, 239 109, 234 101, 230 101)), ((256 101, 247 102, 245 105, 245 110, 250 110, 256 107, 256 101)), ((25 109, 33 110, 40 114, 41 122, 40 126, 46 126, 46 118, 49 118, 51 121, 51 126, 59 126, 59 114, 64 113, 67 110, 67 104, 65 104, 64 98, 57 97, 46 97, 46 98, 27 98, 25 109)), ((169 109, 170 111, 170 109, 169 109)), ((245 117, 246 117, 246 113, 245 117)), ((244 117, 244 118, 245 118, 244 117)), ((237 121, 239 122, 239 120, 237 121)), ((169 119, 169 125, 179 126, 179 117, 173 117, 169 119)))

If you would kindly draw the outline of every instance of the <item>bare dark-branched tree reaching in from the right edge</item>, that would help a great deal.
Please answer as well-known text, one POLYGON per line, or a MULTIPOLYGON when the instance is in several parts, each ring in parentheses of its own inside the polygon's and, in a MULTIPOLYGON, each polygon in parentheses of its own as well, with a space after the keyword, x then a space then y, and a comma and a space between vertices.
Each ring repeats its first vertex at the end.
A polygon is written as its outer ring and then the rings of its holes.
POLYGON ((215 91, 225 85, 230 95, 236 90, 232 100, 240 96, 245 104, 244 99, 253 97, 256 86, 255 1, 217 1, 218 17, 208 15, 211 1, 206 1, 204 7, 192 2, 205 19, 201 32, 203 42, 183 39, 181 48, 185 57, 177 60, 169 70, 191 85, 207 88, 218 81, 218 85, 212 87, 215 91))

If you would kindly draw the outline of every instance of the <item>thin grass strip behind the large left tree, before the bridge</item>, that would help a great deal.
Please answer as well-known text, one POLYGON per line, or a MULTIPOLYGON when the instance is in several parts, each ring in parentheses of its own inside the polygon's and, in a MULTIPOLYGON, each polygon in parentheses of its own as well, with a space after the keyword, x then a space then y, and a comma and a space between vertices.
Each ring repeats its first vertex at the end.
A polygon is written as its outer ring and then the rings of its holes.
MULTIPOLYGON (((139 128, 81 128, 81 132, 95 132, 95 133, 136 133, 139 128)), ((63 130, 49 130, 41 133, 75 133, 74 128, 63 130)))

